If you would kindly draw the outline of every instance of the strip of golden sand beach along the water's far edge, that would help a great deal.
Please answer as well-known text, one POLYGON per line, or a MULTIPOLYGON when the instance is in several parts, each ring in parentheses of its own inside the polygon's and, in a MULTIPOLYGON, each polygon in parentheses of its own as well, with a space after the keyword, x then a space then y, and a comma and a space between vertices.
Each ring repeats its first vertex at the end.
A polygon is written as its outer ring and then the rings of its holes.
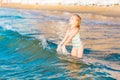
POLYGON ((19 8, 33 10, 67 11, 72 13, 92 13, 104 16, 120 17, 120 6, 78 6, 78 5, 28 5, 20 3, 4 3, 3 8, 19 8))

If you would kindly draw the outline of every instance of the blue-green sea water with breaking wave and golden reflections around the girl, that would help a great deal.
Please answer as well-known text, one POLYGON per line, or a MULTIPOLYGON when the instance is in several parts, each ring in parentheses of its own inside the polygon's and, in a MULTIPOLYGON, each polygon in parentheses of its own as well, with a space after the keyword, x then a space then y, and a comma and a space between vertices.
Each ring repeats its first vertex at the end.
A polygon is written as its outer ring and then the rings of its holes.
POLYGON ((0 8, 0 79, 119 80, 120 18, 80 15, 83 62, 56 52, 71 13, 0 8))

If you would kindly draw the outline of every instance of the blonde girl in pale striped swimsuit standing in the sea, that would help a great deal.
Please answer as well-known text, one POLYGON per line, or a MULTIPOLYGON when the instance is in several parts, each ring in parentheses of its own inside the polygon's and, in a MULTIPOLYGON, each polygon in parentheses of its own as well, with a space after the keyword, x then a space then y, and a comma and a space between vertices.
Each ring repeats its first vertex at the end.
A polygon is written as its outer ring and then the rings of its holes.
POLYGON ((81 17, 77 14, 72 15, 69 20, 70 27, 67 29, 66 34, 62 42, 58 45, 57 51, 59 49, 65 49, 65 46, 72 41, 72 51, 71 56, 82 58, 83 56, 83 45, 80 40, 80 24, 81 17))

